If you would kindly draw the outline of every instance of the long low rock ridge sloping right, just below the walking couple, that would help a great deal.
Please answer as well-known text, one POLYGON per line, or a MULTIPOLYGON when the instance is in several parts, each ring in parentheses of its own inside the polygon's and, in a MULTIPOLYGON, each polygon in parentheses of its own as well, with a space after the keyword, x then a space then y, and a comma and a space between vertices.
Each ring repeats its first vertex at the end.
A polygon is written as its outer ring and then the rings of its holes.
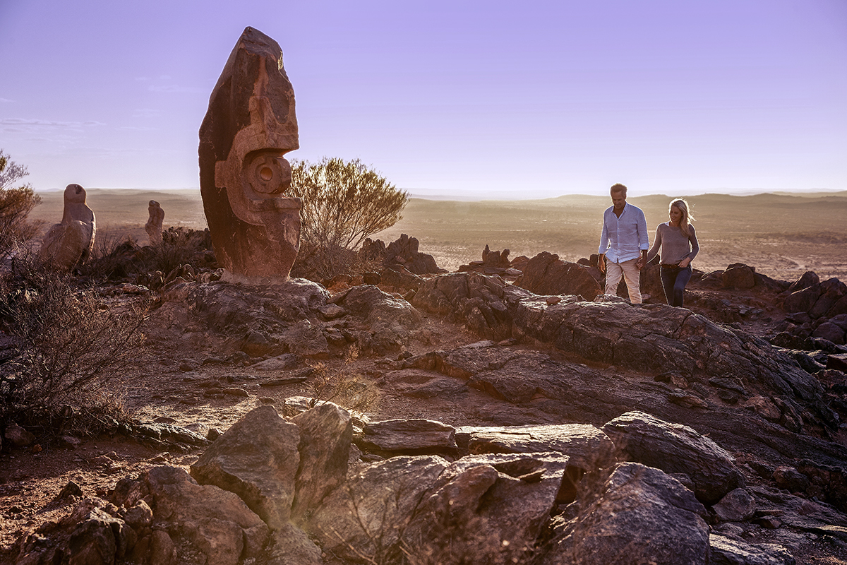
POLYGON ((593 363, 672 372, 704 384, 732 374, 750 390, 812 401, 821 385, 766 341, 683 308, 582 302, 522 291, 481 274, 427 280, 412 303, 462 319, 490 339, 529 336, 593 363))

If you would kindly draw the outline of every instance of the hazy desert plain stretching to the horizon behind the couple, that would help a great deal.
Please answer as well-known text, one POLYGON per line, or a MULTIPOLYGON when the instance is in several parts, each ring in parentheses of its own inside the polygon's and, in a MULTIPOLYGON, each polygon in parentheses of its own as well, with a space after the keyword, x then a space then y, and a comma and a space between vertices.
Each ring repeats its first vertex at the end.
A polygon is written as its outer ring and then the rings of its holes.
MULTIPOLYGON (((165 211, 164 227, 206 227, 199 190, 141 191, 87 189, 97 214, 101 244, 130 236, 147 243, 147 202, 165 211)), ((31 214, 46 225, 62 218, 62 192, 39 193, 42 204, 31 214)), ((449 197, 447 197, 449 198, 449 197)), ((629 197, 645 212, 650 242, 656 225, 667 221, 671 196, 629 197)), ((795 280, 815 271, 821 280, 847 280, 847 191, 765 193, 750 196, 704 194, 686 197, 695 217, 701 271, 745 263, 774 279, 795 280)), ((400 222, 373 235, 394 241, 401 234, 418 238, 420 251, 455 271, 479 260, 484 246, 508 249, 509 257, 556 253, 567 261, 597 252, 608 197, 567 195, 543 200, 429 200, 412 197, 400 222)))

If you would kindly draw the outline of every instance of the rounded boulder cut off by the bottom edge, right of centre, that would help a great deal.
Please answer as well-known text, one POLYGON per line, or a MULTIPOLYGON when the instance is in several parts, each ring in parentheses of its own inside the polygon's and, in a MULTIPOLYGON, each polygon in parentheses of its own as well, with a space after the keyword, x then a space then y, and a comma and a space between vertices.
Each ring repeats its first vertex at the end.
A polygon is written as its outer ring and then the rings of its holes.
POLYGON ((621 463, 558 518, 537 563, 545 565, 705 565, 706 508, 677 479, 621 463), (567 519, 570 518, 570 519, 567 519))

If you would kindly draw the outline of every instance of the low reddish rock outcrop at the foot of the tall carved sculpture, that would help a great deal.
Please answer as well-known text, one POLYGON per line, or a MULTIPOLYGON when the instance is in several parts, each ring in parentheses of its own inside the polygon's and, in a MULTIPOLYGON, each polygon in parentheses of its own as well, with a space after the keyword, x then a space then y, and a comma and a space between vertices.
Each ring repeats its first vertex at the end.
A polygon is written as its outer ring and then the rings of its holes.
POLYGON ((385 355, 400 351, 421 319, 409 302, 374 285, 330 298, 305 279, 266 286, 181 283, 164 301, 152 323, 174 332, 174 339, 220 340, 249 357, 325 358, 352 345, 385 355))

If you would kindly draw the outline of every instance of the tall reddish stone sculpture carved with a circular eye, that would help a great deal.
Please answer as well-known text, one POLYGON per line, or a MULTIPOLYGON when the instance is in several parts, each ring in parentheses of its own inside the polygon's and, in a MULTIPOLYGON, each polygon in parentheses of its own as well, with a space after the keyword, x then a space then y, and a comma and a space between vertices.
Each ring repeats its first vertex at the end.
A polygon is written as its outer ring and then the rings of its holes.
POLYGON ((300 147, 294 91, 277 42, 248 27, 200 127, 200 191, 224 280, 282 282, 300 248, 286 152, 300 147))

